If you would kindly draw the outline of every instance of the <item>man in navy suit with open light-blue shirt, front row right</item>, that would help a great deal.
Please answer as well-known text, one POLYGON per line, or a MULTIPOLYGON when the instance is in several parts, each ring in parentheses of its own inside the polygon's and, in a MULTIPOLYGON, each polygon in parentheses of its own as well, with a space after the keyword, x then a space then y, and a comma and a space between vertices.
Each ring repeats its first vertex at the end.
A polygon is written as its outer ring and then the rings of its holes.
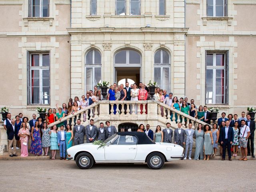
POLYGON ((225 127, 220 130, 220 143, 222 144, 222 160, 225 160, 226 148, 228 147, 228 160, 231 161, 231 145, 234 141, 233 128, 229 126, 229 121, 226 120, 225 127))

